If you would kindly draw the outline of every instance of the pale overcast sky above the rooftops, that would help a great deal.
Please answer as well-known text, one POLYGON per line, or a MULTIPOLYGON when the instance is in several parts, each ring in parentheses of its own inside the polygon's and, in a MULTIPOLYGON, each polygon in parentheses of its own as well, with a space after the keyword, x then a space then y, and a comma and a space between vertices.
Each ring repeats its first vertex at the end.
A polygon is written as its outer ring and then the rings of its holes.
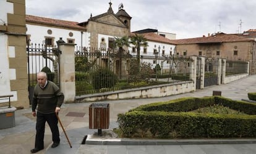
MULTIPOLYGON (((175 33, 177 39, 208 33, 241 33, 256 29, 255 0, 111 0, 114 13, 119 4, 132 17, 131 31, 153 28, 175 33)), ((26 14, 85 22, 105 13, 109 0, 26 0, 26 14)))

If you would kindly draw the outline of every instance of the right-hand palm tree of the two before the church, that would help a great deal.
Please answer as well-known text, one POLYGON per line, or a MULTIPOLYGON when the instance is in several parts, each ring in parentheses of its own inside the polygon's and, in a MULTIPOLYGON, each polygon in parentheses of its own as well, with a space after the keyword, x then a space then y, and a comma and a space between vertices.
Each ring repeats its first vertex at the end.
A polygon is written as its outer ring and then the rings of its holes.
POLYGON ((135 34, 130 38, 130 43, 134 44, 137 48, 137 64, 140 65, 140 46, 147 47, 148 40, 144 37, 143 34, 135 34))

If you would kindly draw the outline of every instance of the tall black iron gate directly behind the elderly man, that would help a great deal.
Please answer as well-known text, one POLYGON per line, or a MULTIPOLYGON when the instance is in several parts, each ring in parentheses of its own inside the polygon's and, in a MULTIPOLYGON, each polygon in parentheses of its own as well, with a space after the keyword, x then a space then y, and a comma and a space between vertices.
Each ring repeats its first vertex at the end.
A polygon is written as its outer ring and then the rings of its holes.
MULTIPOLYGON (((46 42, 46 41, 45 41, 46 42)), ((45 71, 49 81, 53 81, 60 86, 59 75, 59 47, 47 46, 43 44, 27 43, 28 61, 28 98, 30 104, 33 100, 33 90, 37 83, 36 73, 45 71)))

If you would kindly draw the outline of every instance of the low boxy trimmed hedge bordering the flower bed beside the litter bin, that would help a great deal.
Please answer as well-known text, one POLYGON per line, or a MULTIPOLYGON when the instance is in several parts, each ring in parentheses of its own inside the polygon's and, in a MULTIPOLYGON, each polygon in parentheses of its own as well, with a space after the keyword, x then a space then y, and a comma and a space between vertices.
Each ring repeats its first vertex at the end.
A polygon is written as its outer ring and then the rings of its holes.
POLYGON ((123 137, 256 137, 256 104, 220 96, 141 105, 117 118, 123 137), (248 115, 190 112, 221 104, 248 115))

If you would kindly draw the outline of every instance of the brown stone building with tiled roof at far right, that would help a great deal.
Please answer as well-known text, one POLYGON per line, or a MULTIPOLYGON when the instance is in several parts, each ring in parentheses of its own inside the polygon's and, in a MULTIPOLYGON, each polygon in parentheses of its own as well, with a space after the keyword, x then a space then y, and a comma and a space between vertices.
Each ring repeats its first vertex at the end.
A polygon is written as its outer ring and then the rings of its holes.
POLYGON ((171 40, 176 44, 176 56, 203 56, 207 59, 226 59, 250 62, 250 74, 256 73, 254 39, 235 34, 217 33, 201 38, 171 40))

